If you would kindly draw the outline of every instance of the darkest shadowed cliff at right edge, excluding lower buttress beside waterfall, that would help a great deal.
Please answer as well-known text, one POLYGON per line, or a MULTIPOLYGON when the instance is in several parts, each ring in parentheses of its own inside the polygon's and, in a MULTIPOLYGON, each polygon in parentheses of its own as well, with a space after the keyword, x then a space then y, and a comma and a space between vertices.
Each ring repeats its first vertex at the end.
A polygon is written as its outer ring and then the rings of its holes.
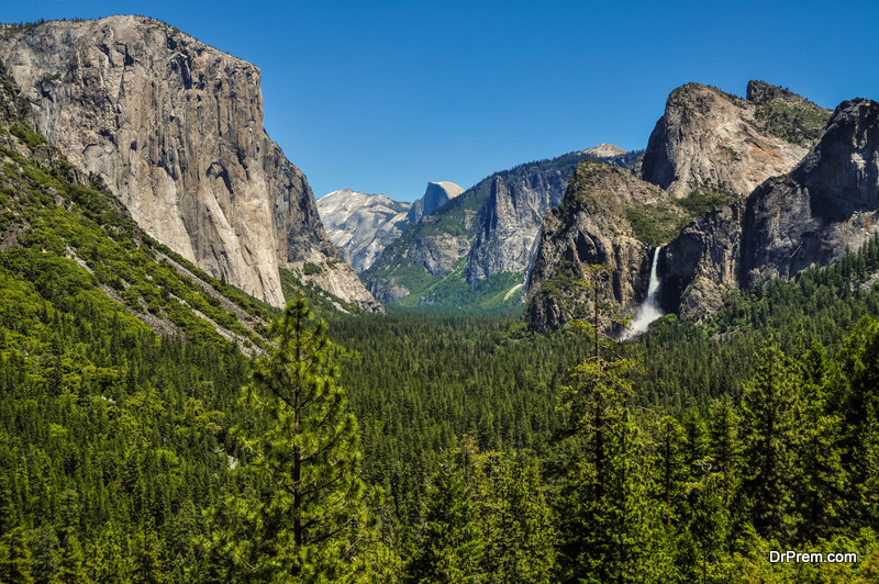
POLYGON ((845 101, 797 169, 748 199, 742 283, 790 278, 857 249, 876 229, 878 211, 879 103, 845 101))

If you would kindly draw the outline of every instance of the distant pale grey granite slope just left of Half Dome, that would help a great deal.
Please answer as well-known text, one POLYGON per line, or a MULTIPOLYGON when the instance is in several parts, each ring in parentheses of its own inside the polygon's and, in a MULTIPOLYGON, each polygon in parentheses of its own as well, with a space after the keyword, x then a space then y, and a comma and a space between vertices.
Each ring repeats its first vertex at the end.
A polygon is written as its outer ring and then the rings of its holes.
POLYGON ((318 199, 318 211, 342 258, 359 273, 369 268, 409 225, 412 203, 387 194, 342 189, 318 199))

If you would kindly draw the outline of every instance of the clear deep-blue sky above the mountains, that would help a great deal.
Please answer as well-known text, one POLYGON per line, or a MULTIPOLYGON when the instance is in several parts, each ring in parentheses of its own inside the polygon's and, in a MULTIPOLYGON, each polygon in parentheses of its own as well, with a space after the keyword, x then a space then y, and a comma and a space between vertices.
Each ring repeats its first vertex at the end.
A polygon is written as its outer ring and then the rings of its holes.
POLYGON ((0 21, 153 16, 260 67, 265 123, 316 196, 602 142, 645 147, 675 87, 748 79, 826 108, 879 99, 879 2, 0 0, 0 21))

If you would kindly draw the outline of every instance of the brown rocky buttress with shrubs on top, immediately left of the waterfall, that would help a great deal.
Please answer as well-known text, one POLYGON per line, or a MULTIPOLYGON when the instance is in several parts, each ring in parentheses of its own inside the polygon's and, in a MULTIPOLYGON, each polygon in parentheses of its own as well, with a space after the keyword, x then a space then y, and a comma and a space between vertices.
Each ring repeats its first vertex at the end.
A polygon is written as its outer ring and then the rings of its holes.
POLYGON ((676 206, 665 191, 627 170, 580 162, 564 201, 544 220, 527 288, 531 326, 564 327, 588 310, 588 294, 577 281, 593 265, 611 268, 610 293, 631 312, 646 295, 653 246, 635 236, 626 210, 676 206))

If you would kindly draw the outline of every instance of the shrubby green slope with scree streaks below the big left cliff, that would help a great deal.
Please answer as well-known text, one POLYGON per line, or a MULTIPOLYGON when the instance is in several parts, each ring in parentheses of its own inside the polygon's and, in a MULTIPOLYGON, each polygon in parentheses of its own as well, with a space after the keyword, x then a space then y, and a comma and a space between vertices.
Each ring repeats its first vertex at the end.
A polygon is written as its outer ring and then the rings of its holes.
POLYGON ((115 314, 159 335, 248 352, 265 346, 265 306, 145 234, 112 193, 33 131, 30 103, 1 68, 0 164, 0 296, 10 301, 10 322, 25 318, 26 297, 43 314, 81 322, 115 314))

